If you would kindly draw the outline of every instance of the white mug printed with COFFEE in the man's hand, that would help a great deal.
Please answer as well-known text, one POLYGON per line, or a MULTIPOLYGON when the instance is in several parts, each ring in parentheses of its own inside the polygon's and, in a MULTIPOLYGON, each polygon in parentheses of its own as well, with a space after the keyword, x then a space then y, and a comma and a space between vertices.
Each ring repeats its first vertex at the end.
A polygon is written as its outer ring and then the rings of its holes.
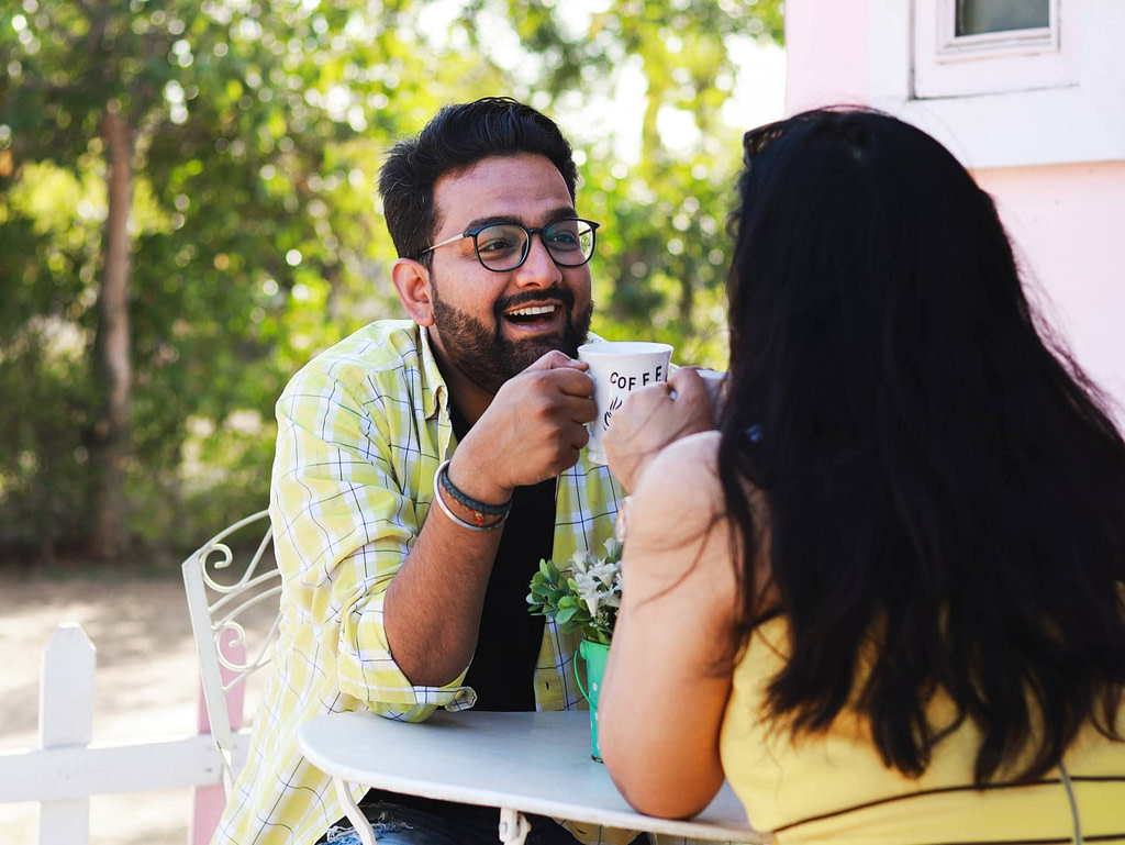
POLYGON ((668 380, 672 347, 647 341, 598 341, 578 347, 578 360, 590 363, 597 404, 597 416, 586 426, 587 456, 593 464, 605 464, 603 438, 613 413, 638 387, 668 380))

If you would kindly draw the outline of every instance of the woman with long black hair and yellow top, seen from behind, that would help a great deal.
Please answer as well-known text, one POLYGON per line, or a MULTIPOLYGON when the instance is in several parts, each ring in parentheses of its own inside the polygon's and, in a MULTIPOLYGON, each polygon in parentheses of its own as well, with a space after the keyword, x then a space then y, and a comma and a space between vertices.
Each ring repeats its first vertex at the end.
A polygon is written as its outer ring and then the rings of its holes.
POLYGON ((936 141, 831 109, 745 143, 718 431, 684 437, 706 403, 681 370, 608 438, 633 492, 614 781, 686 817, 726 776, 781 845, 1125 843, 1100 394, 936 141))

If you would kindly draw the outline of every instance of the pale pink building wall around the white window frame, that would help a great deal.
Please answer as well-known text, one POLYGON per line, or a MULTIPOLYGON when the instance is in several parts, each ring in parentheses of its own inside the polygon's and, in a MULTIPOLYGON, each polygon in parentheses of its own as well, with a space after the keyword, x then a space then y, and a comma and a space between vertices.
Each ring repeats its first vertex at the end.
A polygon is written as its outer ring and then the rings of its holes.
MULTIPOLYGON (((868 50, 878 48, 867 37, 867 0, 788 0, 785 16, 786 111, 867 101, 868 50)), ((1116 399, 1125 426, 1125 162, 973 176, 997 203, 1029 297, 1116 399)))

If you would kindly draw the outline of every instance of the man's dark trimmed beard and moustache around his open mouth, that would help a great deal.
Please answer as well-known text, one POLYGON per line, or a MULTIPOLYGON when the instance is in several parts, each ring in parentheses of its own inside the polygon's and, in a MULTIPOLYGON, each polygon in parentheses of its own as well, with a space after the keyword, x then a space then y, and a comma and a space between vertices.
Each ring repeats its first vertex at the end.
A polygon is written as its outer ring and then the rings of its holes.
POLYGON ((525 370, 547 352, 557 349, 570 358, 577 358, 578 347, 586 342, 590 322, 594 314, 593 302, 582 313, 575 314, 574 294, 562 287, 550 288, 546 298, 560 303, 566 313, 566 325, 561 334, 552 333, 513 341, 505 338, 502 332, 504 312, 525 302, 542 302, 543 291, 529 290, 497 299, 493 305, 493 327, 489 329, 480 320, 446 303, 439 295, 432 273, 430 284, 434 326, 441 335, 446 354, 466 378, 490 394, 495 394, 505 381, 525 370))

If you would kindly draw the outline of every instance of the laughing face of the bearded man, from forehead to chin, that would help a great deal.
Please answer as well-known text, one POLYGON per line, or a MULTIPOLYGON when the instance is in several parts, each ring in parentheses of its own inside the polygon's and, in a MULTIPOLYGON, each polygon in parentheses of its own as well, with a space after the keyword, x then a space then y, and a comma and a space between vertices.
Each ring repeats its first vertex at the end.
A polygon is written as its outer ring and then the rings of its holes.
MULTIPOLYGON (((446 173, 433 198, 434 243, 485 223, 539 228, 575 216, 562 174, 528 153, 446 173)), ((593 313, 590 264, 559 267, 538 234, 526 261, 507 272, 485 269, 471 237, 434 250, 430 296, 439 359, 490 394, 552 349, 576 357, 593 313)))

